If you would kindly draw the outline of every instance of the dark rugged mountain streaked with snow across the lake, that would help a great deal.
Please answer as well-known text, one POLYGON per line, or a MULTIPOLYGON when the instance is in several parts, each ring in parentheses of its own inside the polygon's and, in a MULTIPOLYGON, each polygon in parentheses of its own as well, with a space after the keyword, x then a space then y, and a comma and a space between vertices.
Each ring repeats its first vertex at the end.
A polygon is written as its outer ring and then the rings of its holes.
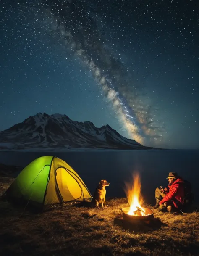
POLYGON ((144 149, 108 124, 97 128, 92 122, 72 121, 61 114, 38 113, 0 132, 0 149, 25 148, 111 148, 144 149))

